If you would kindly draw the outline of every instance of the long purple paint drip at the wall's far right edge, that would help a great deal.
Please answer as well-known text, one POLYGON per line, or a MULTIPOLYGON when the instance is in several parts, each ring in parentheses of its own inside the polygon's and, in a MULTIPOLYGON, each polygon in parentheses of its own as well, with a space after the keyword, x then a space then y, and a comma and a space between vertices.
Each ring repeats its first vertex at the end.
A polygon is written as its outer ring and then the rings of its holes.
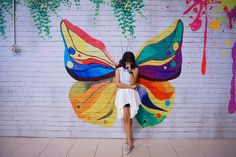
POLYGON ((232 59, 233 59, 233 65, 232 65, 232 80, 231 80, 231 90, 230 90, 230 101, 229 101, 229 113, 234 113, 236 110, 236 102, 235 102, 235 74, 236 74, 236 42, 234 43, 234 47, 232 48, 232 59))

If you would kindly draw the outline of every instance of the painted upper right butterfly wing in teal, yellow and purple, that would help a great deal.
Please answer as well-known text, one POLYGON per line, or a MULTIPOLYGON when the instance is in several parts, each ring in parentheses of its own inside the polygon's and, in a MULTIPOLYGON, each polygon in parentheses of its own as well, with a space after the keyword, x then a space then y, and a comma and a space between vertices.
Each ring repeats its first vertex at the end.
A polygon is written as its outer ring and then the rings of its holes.
POLYGON ((178 20, 159 36, 144 43, 136 54, 140 77, 152 81, 178 77, 182 66, 182 37, 183 23, 178 20))

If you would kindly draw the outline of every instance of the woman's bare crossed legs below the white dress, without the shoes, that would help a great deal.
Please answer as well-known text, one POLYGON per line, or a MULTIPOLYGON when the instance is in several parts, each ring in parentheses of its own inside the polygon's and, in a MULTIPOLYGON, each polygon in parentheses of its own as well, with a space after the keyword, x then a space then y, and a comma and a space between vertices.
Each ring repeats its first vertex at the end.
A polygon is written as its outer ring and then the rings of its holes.
POLYGON ((132 145, 132 119, 130 118, 130 107, 124 107, 124 128, 128 145, 132 145))

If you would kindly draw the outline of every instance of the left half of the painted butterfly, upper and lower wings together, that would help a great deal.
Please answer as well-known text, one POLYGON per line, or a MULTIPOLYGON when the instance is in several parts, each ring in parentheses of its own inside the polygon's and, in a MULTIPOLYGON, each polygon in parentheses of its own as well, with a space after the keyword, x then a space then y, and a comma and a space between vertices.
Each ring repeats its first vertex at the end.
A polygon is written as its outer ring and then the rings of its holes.
POLYGON ((85 122, 111 127, 116 119, 115 62, 101 41, 68 20, 61 21, 61 34, 66 70, 78 80, 69 92, 74 112, 85 122))

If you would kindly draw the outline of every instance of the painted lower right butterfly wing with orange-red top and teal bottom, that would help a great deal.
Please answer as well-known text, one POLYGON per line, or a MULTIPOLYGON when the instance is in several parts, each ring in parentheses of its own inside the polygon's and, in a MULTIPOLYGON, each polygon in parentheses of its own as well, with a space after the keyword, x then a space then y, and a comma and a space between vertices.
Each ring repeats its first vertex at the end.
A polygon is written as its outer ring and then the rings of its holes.
POLYGON ((168 81, 139 79, 138 92, 142 104, 136 119, 141 127, 160 124, 173 108, 175 88, 168 81))

